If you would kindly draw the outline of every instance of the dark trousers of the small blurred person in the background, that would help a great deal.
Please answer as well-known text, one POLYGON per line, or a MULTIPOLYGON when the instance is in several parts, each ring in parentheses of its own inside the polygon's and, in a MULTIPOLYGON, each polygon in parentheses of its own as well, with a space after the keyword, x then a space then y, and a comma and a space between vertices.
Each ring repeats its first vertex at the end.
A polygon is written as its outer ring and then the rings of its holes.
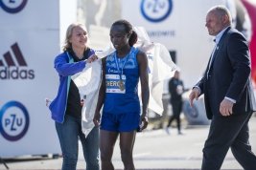
POLYGON ((180 130, 180 113, 182 110, 182 101, 176 100, 171 101, 173 107, 173 116, 170 117, 167 127, 170 127, 171 123, 176 119, 177 129, 180 130))

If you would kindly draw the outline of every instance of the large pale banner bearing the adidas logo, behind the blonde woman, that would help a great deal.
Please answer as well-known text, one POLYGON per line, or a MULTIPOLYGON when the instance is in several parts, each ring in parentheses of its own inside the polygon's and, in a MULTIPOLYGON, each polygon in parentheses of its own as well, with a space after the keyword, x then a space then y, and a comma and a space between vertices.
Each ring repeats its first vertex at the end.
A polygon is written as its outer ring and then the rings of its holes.
POLYGON ((57 95, 59 35, 76 9, 69 0, 0 0, 0 158, 60 153, 44 98, 57 95))

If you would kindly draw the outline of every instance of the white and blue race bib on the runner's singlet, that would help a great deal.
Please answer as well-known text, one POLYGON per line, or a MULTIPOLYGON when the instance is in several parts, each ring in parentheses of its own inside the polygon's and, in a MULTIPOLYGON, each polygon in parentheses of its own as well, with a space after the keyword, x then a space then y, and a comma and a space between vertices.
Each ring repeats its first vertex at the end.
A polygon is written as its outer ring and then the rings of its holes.
POLYGON ((124 90, 119 87, 119 74, 105 74, 105 93, 126 94, 127 77, 122 74, 122 81, 124 82, 124 90))

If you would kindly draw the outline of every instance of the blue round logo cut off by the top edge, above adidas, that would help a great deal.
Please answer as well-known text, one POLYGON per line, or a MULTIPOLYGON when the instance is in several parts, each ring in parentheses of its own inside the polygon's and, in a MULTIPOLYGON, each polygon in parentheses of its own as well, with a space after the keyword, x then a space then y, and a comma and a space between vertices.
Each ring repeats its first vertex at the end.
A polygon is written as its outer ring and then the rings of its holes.
POLYGON ((28 0, 0 0, 0 6, 4 11, 17 13, 22 11, 28 0))

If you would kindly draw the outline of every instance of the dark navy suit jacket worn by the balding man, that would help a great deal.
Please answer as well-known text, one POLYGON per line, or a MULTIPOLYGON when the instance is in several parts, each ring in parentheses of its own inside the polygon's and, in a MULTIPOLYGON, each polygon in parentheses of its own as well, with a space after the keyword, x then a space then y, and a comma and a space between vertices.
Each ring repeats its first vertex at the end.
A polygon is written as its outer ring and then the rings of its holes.
POLYGON ((196 85, 201 90, 200 95, 204 94, 207 117, 222 117, 220 105, 225 96, 236 100, 233 115, 256 111, 250 78, 250 56, 244 35, 228 28, 218 46, 210 68, 209 60, 204 76, 196 85))

